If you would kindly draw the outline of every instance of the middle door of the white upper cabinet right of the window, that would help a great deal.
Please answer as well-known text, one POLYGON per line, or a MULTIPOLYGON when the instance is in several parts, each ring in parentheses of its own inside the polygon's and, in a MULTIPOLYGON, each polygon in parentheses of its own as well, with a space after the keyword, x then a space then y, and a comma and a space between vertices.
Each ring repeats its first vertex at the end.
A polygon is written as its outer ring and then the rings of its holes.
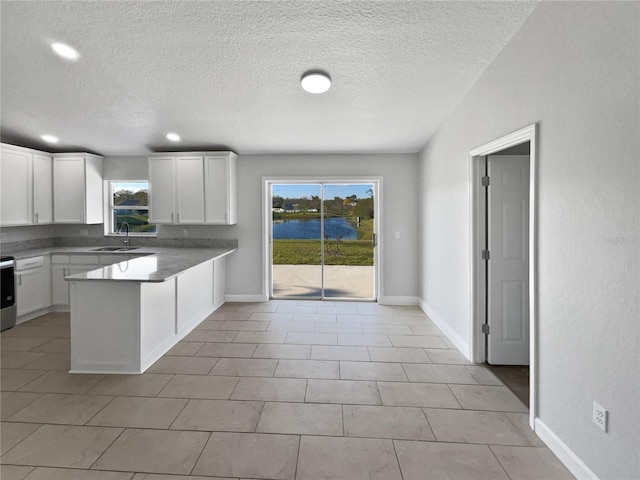
POLYGON ((176 223, 204 223, 204 166, 202 157, 176 158, 176 223))

